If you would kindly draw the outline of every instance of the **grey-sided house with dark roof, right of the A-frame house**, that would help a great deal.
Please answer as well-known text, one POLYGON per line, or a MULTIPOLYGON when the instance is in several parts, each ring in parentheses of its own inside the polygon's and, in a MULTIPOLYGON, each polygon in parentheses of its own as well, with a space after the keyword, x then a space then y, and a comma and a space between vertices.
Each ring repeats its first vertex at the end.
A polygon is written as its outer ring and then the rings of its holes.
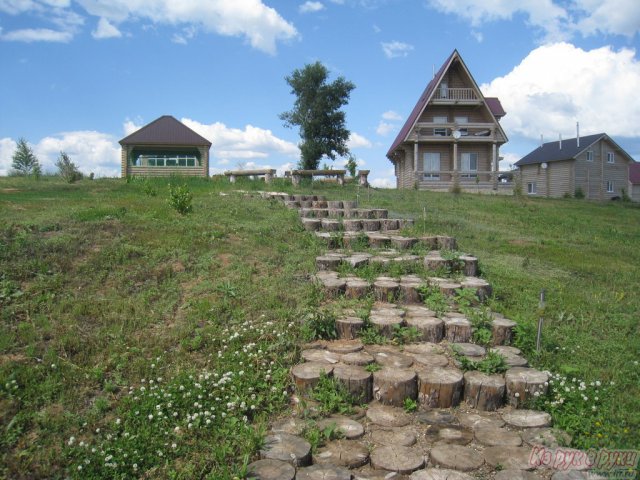
POLYGON ((525 195, 562 197, 581 191, 606 200, 629 191, 633 158, 606 133, 544 143, 515 163, 525 195))

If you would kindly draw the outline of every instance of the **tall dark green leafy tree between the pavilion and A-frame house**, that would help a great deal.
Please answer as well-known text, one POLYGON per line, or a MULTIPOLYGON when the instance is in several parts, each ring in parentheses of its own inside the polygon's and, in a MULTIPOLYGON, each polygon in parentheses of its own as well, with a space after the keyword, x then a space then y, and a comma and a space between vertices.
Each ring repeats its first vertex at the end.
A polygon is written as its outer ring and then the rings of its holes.
POLYGON ((329 71, 320 62, 296 69, 285 80, 296 96, 293 109, 280 114, 286 127, 300 127, 300 165, 316 170, 326 155, 331 160, 349 153, 349 130, 341 110, 355 85, 343 77, 327 83, 329 71))

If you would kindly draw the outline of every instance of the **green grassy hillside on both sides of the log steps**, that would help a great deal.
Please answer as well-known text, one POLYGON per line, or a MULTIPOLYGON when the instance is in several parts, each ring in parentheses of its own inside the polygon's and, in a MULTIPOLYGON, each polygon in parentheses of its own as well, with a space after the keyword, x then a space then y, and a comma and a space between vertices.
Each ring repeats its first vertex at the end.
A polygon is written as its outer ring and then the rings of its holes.
MULTIPOLYGON (((286 405, 324 248, 278 203, 186 182, 182 216, 167 180, 0 179, 0 476, 232 478, 286 405)), ((640 444, 637 206, 312 188, 457 237, 528 358, 585 382, 548 406, 574 444, 640 444)))

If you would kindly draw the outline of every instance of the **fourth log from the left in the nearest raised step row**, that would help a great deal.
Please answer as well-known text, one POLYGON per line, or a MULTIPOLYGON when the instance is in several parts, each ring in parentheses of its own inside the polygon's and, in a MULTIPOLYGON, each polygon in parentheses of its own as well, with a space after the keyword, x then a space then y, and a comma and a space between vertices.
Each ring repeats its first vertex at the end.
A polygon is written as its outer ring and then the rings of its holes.
POLYGON ((462 397, 462 384, 462 372, 458 369, 436 367, 420 370, 418 400, 429 408, 455 407, 462 397))

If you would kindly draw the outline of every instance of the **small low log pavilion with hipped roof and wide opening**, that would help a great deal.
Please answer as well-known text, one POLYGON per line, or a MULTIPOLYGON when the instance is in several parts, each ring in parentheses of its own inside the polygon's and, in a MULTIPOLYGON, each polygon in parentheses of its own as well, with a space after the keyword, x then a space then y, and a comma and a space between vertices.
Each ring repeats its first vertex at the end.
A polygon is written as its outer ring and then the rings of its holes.
POLYGON ((170 115, 120 140, 122 177, 209 176, 211 142, 170 115))

